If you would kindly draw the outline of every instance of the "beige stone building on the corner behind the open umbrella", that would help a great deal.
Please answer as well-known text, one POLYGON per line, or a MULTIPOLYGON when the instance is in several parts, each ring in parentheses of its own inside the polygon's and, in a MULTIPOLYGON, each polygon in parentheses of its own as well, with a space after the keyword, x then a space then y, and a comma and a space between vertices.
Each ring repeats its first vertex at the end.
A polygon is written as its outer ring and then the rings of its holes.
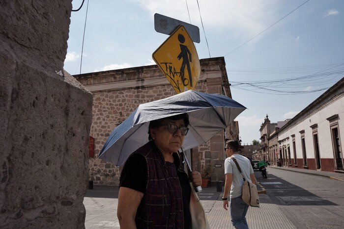
MULTIPOLYGON (((202 59, 196 91, 218 93, 231 98, 224 57, 202 59)), ((119 69, 74 76, 93 95, 94 155, 89 158, 89 177, 95 184, 116 185, 120 167, 96 159, 111 131, 141 103, 163 99, 176 92, 156 65, 119 69)), ((187 152, 194 170, 212 165, 212 181, 224 181, 224 139, 238 139, 234 122, 206 144, 187 152)), ((91 148, 93 146, 90 146, 91 148)))

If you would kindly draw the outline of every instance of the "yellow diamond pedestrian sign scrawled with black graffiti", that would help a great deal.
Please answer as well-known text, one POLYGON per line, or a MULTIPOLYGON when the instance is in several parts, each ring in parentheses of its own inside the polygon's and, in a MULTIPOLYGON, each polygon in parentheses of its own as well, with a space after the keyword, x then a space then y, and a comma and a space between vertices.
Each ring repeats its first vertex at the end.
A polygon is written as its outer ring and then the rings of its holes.
POLYGON ((201 64, 184 26, 180 25, 152 57, 177 93, 195 89, 201 64))

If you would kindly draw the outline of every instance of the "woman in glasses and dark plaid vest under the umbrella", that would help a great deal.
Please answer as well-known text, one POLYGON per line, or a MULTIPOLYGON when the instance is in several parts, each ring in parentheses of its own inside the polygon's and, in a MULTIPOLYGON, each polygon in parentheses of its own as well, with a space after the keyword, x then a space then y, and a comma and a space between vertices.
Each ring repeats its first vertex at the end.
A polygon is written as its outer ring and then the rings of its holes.
MULTIPOLYGON (((189 118, 179 114, 149 123, 149 142, 124 164, 119 185, 120 227, 191 228, 189 178, 176 153, 188 133, 189 118)), ((191 173, 194 186, 200 173, 191 173)))

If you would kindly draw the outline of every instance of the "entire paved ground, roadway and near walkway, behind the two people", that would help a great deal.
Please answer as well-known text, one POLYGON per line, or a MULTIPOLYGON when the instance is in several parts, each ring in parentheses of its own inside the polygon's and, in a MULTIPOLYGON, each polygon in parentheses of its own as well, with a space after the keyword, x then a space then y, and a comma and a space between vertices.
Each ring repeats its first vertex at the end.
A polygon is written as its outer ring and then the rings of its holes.
MULTIPOLYGON (((342 229, 344 225, 344 182, 309 174, 267 168, 267 179, 255 175, 266 190, 260 207, 250 207, 250 229, 342 229)), ((223 191, 223 190, 222 190, 223 191)), ((95 186, 87 190, 86 229, 119 229, 116 217, 118 187, 95 186)), ((222 192, 216 185, 200 194, 210 228, 232 229, 229 211, 223 209, 222 192)))

